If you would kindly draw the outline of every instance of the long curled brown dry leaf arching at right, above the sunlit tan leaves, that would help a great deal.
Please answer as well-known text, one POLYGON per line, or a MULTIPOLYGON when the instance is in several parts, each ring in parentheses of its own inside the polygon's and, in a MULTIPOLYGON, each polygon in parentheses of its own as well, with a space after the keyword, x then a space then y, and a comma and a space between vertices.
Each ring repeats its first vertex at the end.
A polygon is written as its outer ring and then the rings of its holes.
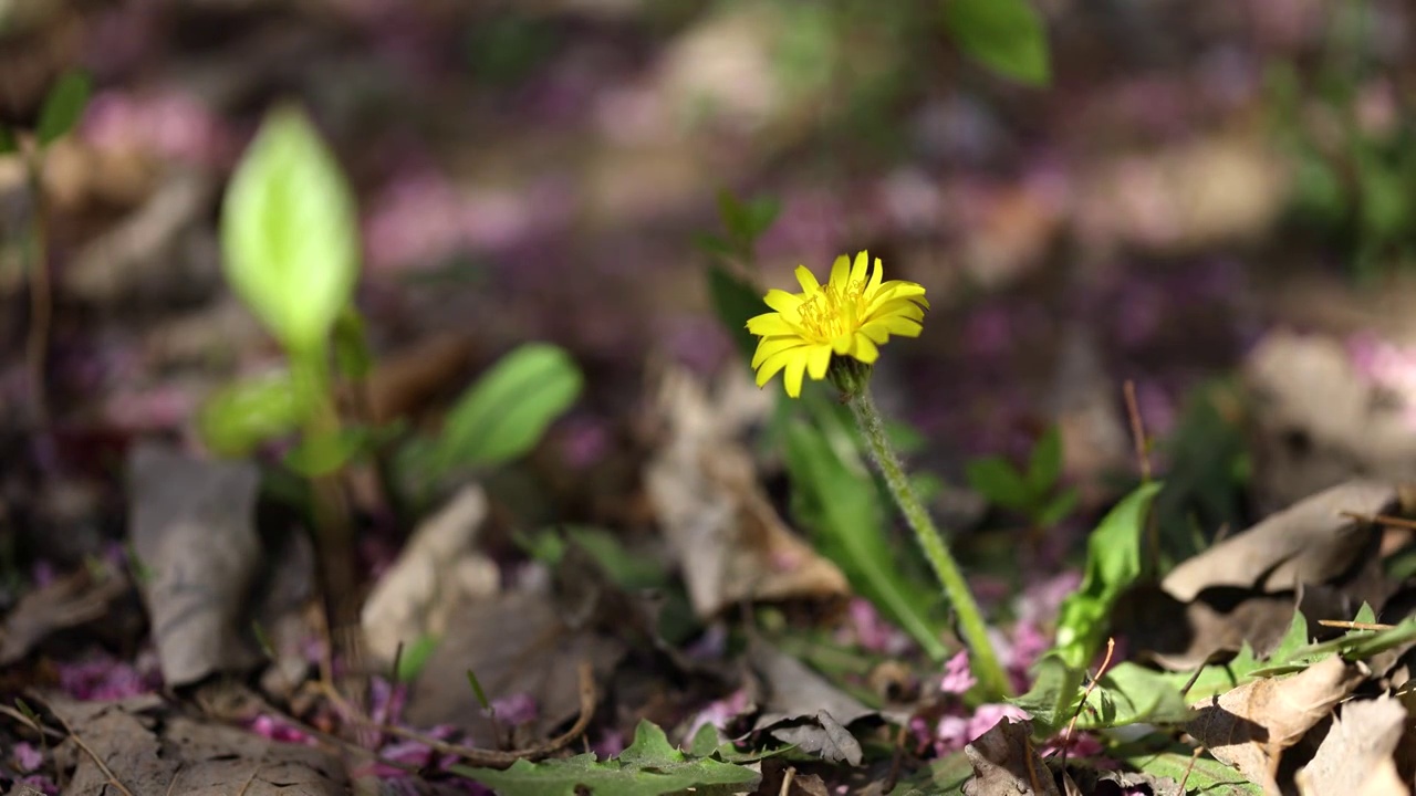
POLYGON ((1352 480, 1273 514, 1171 569, 1161 588, 1182 602, 1212 586, 1266 592, 1325 584, 1369 557, 1376 530, 1345 511, 1371 516, 1395 510, 1396 489, 1352 480))

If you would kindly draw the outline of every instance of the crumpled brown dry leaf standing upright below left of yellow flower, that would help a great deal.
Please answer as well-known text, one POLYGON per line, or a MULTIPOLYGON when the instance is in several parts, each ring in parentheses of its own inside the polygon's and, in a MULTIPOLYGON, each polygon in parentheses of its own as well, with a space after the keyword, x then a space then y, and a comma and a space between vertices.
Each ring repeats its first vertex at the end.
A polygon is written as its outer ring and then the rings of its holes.
POLYGON ((745 422, 762 416, 760 392, 731 373, 715 397, 687 370, 664 374, 667 440, 644 473, 694 610, 708 618, 745 599, 847 595, 845 575, 787 528, 762 490, 736 440, 745 422))

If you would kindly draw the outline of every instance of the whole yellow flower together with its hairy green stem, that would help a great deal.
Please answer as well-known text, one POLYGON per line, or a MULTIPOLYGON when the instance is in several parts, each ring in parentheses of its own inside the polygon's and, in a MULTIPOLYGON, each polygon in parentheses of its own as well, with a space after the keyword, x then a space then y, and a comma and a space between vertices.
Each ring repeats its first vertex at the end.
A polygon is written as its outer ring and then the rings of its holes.
POLYGON ((987 698, 1010 695, 1008 676, 994 654, 978 603, 929 511, 915 496, 871 399, 871 365, 879 357, 879 346, 891 334, 918 337, 922 330, 929 309, 925 288, 899 279, 885 282, 879 258, 871 263, 867 252, 860 252, 854 263, 844 255, 837 258, 826 285, 806 266, 797 266, 796 276, 800 293, 769 290, 765 302, 775 312, 748 322, 748 330, 762 339, 752 358, 758 387, 782 371, 792 398, 801 395, 804 375, 817 381, 830 378, 840 388, 861 426, 871 459, 885 476, 891 497, 944 588, 964 643, 973 653, 978 687, 987 698))

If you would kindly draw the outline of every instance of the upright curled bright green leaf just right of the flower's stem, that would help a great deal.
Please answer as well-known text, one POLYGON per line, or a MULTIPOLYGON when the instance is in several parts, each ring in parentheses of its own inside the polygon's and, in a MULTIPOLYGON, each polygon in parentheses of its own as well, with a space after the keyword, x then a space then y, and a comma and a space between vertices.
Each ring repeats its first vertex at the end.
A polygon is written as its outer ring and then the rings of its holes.
POLYGON ((1086 542, 1086 572, 1062 601, 1054 650, 1070 669, 1085 669, 1106 636, 1116 598, 1141 575, 1141 531, 1160 482, 1136 487, 1102 518, 1086 542))

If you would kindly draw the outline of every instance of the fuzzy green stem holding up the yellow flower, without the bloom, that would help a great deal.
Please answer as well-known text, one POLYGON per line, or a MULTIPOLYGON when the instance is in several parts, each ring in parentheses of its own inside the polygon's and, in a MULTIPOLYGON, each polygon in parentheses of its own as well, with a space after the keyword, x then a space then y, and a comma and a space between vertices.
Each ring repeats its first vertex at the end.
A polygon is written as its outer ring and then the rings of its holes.
POLYGON ((935 527, 935 521, 929 517, 929 511, 915 497, 915 490, 909 486, 909 479, 899 465, 899 457, 895 456, 895 450, 885 438, 885 422, 875 408, 875 401, 871 399, 869 387, 864 380, 860 380, 858 390, 852 392, 847 398, 847 402, 855 414, 855 422, 860 423, 861 432, 865 435, 865 442, 871 450, 871 457, 875 460, 875 466, 885 476, 885 484, 889 487, 891 496, 905 514, 905 521, 915 531, 915 540, 919 541, 919 547, 925 551, 925 558, 929 559, 935 575, 944 586, 944 595, 949 598, 954 615, 959 618, 959 627, 963 632, 964 642, 973 652, 974 677, 978 678, 978 684, 984 688, 988 698, 1011 697, 1012 687, 1008 683, 1008 674, 998 664, 998 656, 994 654, 993 643, 988 642, 988 627, 983 622, 978 603, 969 591, 969 582, 964 581, 963 572, 959 571, 959 564, 949 552, 949 547, 944 545, 944 540, 939 534, 939 528, 935 527))

